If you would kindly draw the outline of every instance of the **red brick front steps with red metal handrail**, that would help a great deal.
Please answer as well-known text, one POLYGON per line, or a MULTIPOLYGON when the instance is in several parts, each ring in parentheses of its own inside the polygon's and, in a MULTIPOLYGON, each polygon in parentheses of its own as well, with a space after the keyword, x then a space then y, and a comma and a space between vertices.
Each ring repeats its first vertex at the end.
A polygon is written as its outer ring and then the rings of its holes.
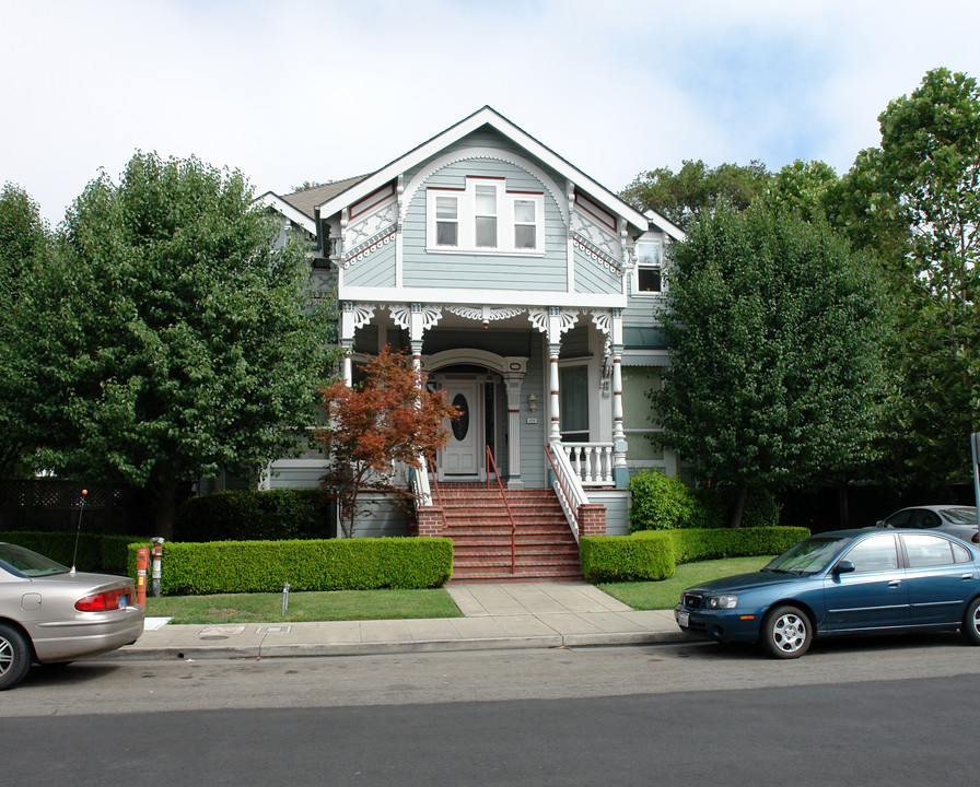
POLYGON ((512 569, 511 520, 495 489, 446 484, 440 489, 453 540, 451 582, 580 579, 579 544, 551 490, 508 490, 516 524, 512 569))

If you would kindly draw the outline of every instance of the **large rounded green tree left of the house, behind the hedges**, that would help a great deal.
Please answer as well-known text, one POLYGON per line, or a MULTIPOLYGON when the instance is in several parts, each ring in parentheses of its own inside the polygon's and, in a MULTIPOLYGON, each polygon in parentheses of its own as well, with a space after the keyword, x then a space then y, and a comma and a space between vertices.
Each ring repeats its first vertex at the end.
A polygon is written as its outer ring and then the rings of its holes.
POLYGON ((61 474, 125 481, 170 537, 182 483, 305 441, 332 353, 298 245, 238 172, 132 157, 69 210, 16 329, 22 410, 61 474))

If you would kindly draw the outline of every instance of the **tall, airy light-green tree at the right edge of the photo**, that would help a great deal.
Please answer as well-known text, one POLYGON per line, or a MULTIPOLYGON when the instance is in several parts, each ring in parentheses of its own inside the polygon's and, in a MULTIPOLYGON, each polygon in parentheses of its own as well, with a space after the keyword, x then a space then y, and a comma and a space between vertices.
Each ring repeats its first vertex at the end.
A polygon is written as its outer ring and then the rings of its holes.
POLYGON ((980 89, 935 69, 878 118, 837 221, 884 263, 895 304, 890 457, 906 483, 969 478, 980 428, 980 89))

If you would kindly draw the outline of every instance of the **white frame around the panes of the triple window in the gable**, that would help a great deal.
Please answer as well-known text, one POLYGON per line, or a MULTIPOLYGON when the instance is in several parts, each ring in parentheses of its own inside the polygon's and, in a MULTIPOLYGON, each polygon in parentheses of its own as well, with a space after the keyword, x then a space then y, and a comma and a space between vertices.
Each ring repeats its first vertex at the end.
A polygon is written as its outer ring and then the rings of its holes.
POLYGON ((425 189, 425 250, 430 254, 492 255, 512 257, 542 257, 545 255, 545 192, 509 191, 504 178, 468 176, 466 187, 450 188, 430 186, 425 189), (477 186, 492 186, 497 191, 497 246, 477 246, 477 216, 491 215, 477 212, 477 186), (439 197, 455 197, 457 205, 457 245, 439 245, 436 234, 436 202, 439 197), (517 222, 515 205, 518 201, 534 204, 534 222, 517 222), (534 247, 517 246, 517 226, 534 227, 534 247))

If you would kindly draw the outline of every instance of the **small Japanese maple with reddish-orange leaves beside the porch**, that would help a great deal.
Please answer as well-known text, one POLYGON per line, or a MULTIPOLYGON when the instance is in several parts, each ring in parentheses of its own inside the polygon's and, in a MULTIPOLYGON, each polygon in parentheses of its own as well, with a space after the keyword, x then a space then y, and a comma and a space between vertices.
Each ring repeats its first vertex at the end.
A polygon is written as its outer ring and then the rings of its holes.
POLYGON ((442 391, 429 391, 405 352, 386 346, 362 367, 364 378, 350 387, 339 380, 322 389, 330 423, 314 437, 327 454, 320 486, 340 505, 340 527, 353 536, 362 491, 394 493, 408 490, 393 483, 396 463, 418 467, 448 442, 445 422, 459 416, 442 391))

